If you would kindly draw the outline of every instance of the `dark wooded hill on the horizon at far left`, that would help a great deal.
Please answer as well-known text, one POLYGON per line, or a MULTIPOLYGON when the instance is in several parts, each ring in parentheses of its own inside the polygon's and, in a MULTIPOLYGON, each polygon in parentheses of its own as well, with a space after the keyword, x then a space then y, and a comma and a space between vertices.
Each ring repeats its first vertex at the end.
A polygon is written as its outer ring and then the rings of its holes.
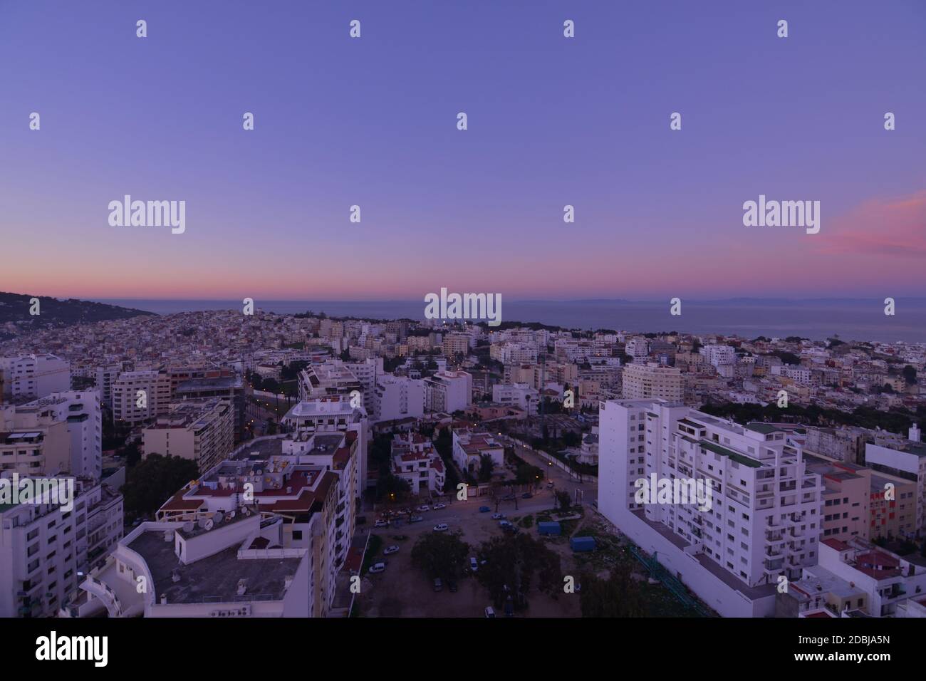
MULTIPOLYGON (((47 296, 0 292, 0 326, 19 322, 20 329, 43 329, 109 320, 124 320, 141 315, 154 315, 144 309, 120 308, 116 305, 93 303, 89 300, 58 300, 47 296), (39 300, 39 314, 31 315, 32 298, 39 300)), ((2 332, 0 332, 2 333, 2 332)))

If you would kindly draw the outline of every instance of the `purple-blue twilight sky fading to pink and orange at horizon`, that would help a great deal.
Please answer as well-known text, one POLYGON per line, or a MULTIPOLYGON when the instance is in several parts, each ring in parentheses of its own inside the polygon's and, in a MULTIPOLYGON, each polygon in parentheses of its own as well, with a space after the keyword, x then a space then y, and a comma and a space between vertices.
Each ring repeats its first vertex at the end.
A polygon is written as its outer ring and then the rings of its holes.
POLYGON ((921 0, 0 0, 0 291, 921 296, 924 83, 921 0))

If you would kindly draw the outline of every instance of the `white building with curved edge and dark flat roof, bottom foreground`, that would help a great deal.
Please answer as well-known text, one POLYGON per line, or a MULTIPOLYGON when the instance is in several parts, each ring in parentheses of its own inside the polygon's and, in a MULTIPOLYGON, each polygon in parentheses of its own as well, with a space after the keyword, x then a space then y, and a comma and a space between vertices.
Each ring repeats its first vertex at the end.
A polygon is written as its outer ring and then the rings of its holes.
POLYGON ((142 523, 81 582, 61 617, 310 617, 312 549, 283 518, 242 510, 142 523))

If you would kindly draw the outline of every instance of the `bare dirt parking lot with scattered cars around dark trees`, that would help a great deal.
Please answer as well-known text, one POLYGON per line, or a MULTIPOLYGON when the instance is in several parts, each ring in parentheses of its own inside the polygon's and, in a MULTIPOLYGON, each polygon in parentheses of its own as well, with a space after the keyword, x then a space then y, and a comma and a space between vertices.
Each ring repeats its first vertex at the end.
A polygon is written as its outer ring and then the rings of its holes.
MULTIPOLYGON (((519 510, 514 510, 514 502, 503 502, 499 512, 508 519, 548 511, 553 507, 553 494, 544 490, 530 499, 518 499, 519 510)), ((469 543, 469 555, 475 556, 479 545, 491 536, 500 536, 502 530, 498 521, 492 519, 493 512, 481 513, 480 506, 489 506, 494 512, 494 503, 487 499, 469 498, 469 501, 457 501, 448 504, 440 511, 419 513, 421 523, 407 523, 403 520, 398 527, 370 528, 373 534, 382 538, 382 548, 397 544, 401 549, 390 556, 378 560, 386 561, 382 574, 367 574, 361 586, 358 598, 360 612, 365 617, 484 617, 485 607, 492 605, 486 590, 471 574, 457 580, 457 593, 452 593, 444 584, 440 592, 433 590, 432 580, 412 565, 411 549, 422 533, 433 531, 438 523, 447 523, 449 531, 460 531, 463 541, 469 543), (405 535, 406 540, 396 540, 393 536, 405 535)), ((372 524, 372 523, 370 523, 372 524)), ((522 529, 536 536, 536 527, 522 529)), ((569 574, 572 559, 568 553, 553 547, 562 556, 564 574, 569 574)), ((531 607, 526 612, 519 612, 518 617, 578 617, 581 615, 578 594, 560 594, 552 599, 540 593, 536 588, 536 576, 528 594, 531 607)), ((497 610, 497 609, 496 609, 497 610)), ((496 612, 496 616, 502 616, 496 612)))

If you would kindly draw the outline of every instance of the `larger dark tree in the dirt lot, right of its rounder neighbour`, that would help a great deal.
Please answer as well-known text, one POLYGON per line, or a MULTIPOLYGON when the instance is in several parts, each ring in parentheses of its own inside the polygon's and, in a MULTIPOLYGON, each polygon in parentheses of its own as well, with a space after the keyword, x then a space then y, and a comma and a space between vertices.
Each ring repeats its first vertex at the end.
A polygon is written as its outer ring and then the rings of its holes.
POLYGON ((510 598, 515 610, 527 608, 527 594, 535 574, 540 591, 552 596, 562 588, 559 556, 532 536, 494 536, 482 543, 479 557, 481 563, 485 562, 476 576, 488 589, 495 607, 502 607, 510 598))

